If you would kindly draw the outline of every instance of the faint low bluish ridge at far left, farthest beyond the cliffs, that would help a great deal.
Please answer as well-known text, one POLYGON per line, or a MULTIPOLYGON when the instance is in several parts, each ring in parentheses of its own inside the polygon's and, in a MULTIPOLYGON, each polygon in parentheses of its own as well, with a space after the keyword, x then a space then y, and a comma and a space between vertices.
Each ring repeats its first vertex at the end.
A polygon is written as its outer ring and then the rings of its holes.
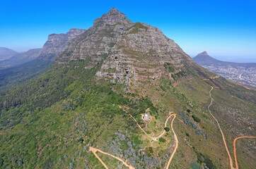
POLYGON ((9 68, 15 65, 26 63, 28 61, 32 61, 39 56, 40 51, 41 49, 30 49, 26 52, 16 54, 4 61, 0 61, 0 69, 9 68))

